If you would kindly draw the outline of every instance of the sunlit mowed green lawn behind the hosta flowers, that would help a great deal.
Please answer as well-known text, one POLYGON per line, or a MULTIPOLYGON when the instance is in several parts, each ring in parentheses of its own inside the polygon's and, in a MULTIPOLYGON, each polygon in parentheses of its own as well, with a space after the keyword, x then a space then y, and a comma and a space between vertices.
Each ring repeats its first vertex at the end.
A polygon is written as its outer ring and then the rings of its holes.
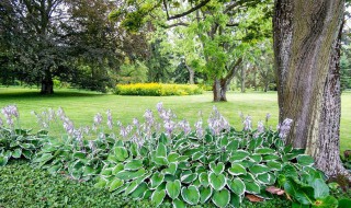
MULTIPOLYGON (((63 107, 76 126, 91 125, 93 116, 107 109, 112 111, 113 119, 123 124, 132 123, 133 118, 143 119, 146 109, 155 113, 156 104, 162 102, 166 108, 177 114, 177 119, 188 119, 192 125, 203 116, 206 123, 213 106, 236 128, 242 128, 239 113, 250 115, 256 127, 258 120, 264 120, 271 114, 269 125, 275 129, 278 124, 276 92, 229 92, 228 102, 213 103, 212 93, 191 96, 120 96, 78 90, 56 90, 54 95, 41 95, 37 89, 0 88, 0 107, 16 104, 20 109, 21 126, 37 129, 36 118, 32 111, 42 112, 47 108, 63 107), (201 112, 201 114, 200 114, 201 112)), ((351 149, 351 93, 344 92, 341 97, 341 151, 351 149)))

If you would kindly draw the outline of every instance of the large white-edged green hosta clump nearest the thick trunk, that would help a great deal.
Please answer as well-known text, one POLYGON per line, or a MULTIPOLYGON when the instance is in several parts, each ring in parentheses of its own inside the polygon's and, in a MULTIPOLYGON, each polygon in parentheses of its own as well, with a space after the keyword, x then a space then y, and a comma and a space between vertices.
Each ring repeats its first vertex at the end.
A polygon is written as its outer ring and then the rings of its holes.
POLYGON ((247 194, 270 198, 265 187, 286 170, 313 169, 310 158, 284 146, 291 120, 272 131, 262 125, 251 130, 247 118, 238 131, 215 109, 206 130, 196 124, 194 131, 184 128, 176 134, 169 116, 163 117, 166 134, 115 143, 97 187, 151 199, 156 206, 170 200, 174 207, 206 203, 239 207, 247 194))

